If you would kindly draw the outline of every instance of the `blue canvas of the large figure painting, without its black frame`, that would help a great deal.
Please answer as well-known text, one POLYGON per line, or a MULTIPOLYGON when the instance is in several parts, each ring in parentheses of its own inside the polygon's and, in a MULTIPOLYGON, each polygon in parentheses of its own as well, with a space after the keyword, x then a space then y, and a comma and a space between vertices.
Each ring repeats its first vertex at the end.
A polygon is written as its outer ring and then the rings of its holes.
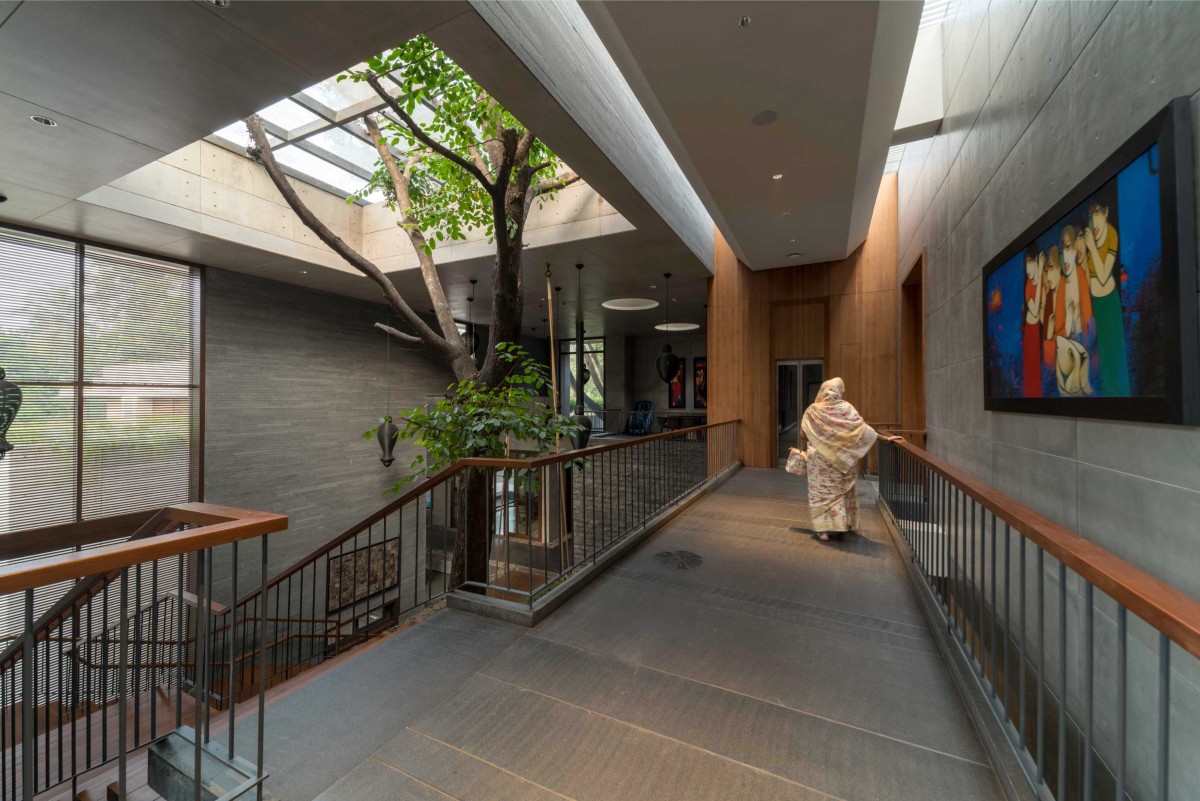
POLYGON ((991 398, 1165 393, 1159 146, 1152 145, 985 279, 991 398))

